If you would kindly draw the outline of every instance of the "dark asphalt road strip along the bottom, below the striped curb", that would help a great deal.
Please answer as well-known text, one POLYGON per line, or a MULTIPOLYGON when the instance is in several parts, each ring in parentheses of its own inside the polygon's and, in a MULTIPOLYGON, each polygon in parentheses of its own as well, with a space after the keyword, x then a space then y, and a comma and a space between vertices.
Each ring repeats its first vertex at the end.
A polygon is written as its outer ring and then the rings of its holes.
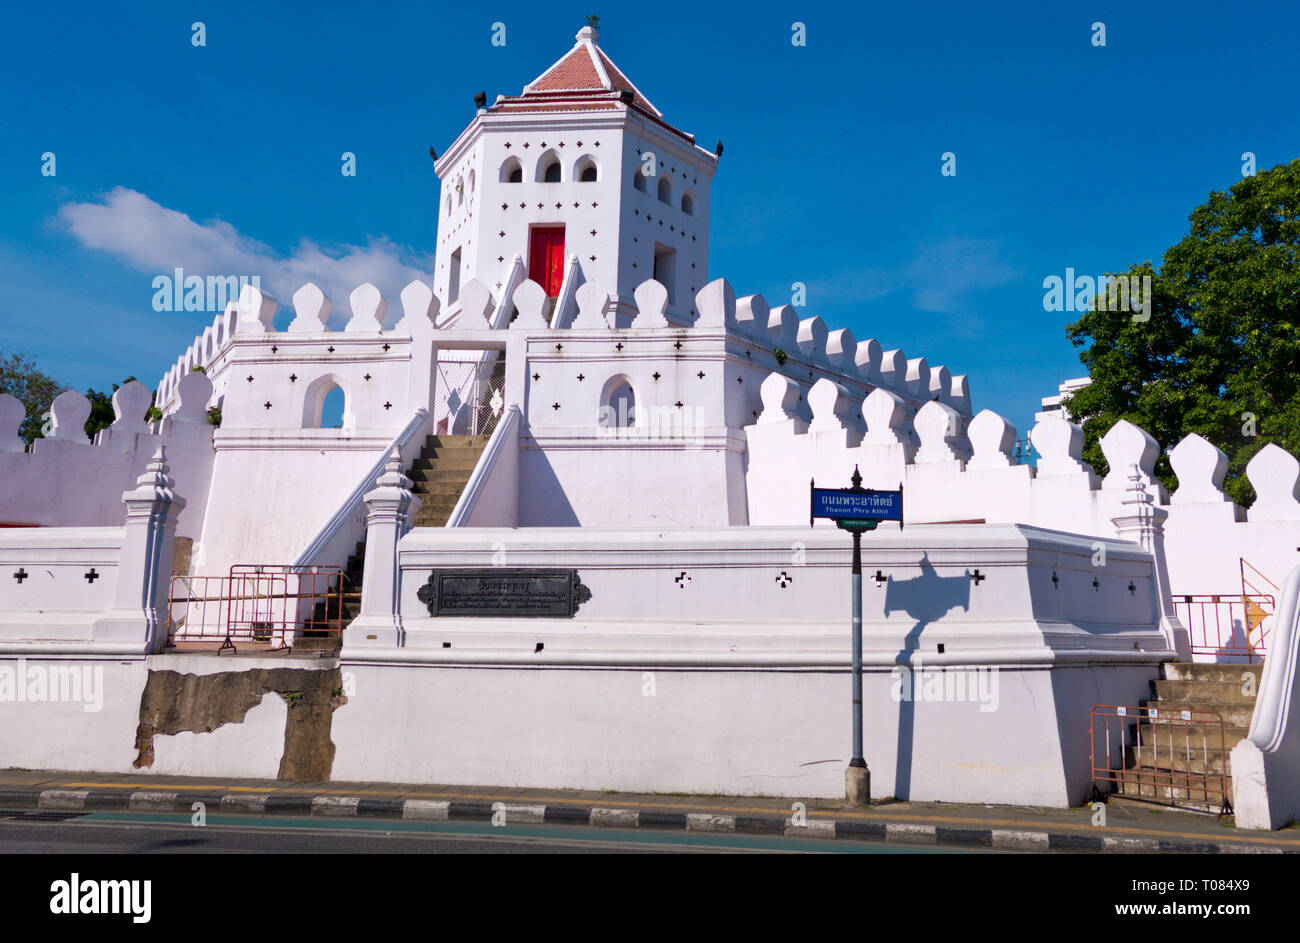
POLYGON ((0 813, 4 855, 628 855, 628 853, 952 853, 954 849, 783 835, 701 834, 588 826, 328 819, 321 817, 143 813, 0 813), (65 817, 66 816, 66 817, 65 817))

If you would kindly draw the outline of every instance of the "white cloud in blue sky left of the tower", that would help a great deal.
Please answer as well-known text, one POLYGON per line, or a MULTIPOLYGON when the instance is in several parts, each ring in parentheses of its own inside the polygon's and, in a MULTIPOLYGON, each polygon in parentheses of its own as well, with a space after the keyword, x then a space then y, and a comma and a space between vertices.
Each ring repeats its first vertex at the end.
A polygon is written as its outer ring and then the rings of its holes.
POLYGON ((370 237, 365 246, 325 250, 303 239, 287 256, 243 235, 222 220, 195 222, 142 193, 113 189, 103 203, 68 203, 60 221, 87 248, 110 252, 151 276, 261 276, 261 285, 289 307, 294 291, 312 281, 329 295, 335 313, 347 313, 347 297, 373 282, 389 299, 389 321, 400 316, 398 295, 412 278, 432 281, 433 255, 370 237))

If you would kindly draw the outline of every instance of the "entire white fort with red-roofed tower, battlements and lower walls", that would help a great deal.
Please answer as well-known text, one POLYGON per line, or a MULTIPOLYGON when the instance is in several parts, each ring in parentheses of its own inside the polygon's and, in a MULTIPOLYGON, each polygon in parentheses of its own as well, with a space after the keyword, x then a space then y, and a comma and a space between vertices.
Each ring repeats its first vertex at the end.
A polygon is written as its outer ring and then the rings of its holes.
POLYGON ((923 338, 710 272, 719 153, 584 29, 437 159, 428 281, 337 325, 315 285, 291 312, 246 285, 162 419, 127 384, 94 442, 65 393, 25 450, 0 397, 0 764, 842 795, 850 540, 809 483, 858 468, 906 498, 863 538, 874 796, 1082 803, 1141 773, 1097 708, 1268 653, 1225 797, 1300 810, 1296 458, 1260 451, 1244 509, 1190 436, 1170 494, 1143 429, 1101 477, 1057 411, 1017 463, 923 338), (60 666, 101 669, 96 709, 17 695, 60 666))

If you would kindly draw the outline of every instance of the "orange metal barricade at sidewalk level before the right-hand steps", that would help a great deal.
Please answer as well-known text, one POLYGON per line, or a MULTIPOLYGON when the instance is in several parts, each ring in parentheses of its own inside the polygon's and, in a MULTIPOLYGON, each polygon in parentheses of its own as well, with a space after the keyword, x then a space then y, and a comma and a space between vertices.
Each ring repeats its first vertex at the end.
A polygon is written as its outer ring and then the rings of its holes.
POLYGON ((1098 704, 1088 734, 1095 792, 1232 810, 1222 714, 1098 704))

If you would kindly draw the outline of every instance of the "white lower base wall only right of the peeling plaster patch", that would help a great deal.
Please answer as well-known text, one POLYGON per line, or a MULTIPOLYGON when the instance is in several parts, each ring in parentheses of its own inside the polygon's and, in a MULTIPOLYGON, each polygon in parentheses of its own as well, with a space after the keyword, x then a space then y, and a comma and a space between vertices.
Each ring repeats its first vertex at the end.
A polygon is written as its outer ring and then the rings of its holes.
MULTIPOLYGON (((350 674, 355 693, 334 715, 335 779, 844 795, 848 671, 344 663, 350 674)), ((1002 669, 982 705, 897 701, 890 674, 868 671, 872 795, 1078 805, 1091 786, 1088 710, 1135 702, 1156 674, 1002 669)))

